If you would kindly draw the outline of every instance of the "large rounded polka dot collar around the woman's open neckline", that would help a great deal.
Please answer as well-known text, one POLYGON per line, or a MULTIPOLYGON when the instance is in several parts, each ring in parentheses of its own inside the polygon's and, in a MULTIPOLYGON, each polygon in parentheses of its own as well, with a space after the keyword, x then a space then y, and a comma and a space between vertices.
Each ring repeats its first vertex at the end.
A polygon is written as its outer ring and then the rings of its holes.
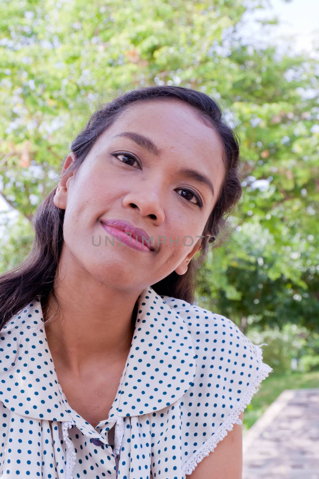
MULTIPOLYGON (((1 330, 0 401, 34 419, 78 422, 58 382, 43 321, 36 299, 1 330)), ((133 340, 107 422, 164 409, 186 393, 195 371, 185 321, 165 296, 146 287, 138 297, 133 340)))

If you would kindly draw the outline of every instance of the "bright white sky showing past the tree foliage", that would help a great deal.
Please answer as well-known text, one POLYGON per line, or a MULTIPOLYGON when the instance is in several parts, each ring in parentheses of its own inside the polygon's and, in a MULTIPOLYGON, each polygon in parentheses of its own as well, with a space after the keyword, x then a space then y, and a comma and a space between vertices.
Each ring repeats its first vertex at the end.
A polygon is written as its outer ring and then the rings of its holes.
MULTIPOLYGON (((247 39, 266 42, 271 40, 280 44, 282 35, 290 35, 292 37, 291 45, 296 52, 306 50, 311 56, 314 56, 312 40, 317 38, 319 43, 319 0, 292 0, 289 3, 284 0, 270 0, 270 2, 271 8, 255 11, 253 15, 246 15, 245 23, 249 27, 245 28, 247 39), (272 18, 275 15, 278 16, 280 25, 272 26, 267 32, 267 36, 263 38, 260 35, 259 23, 255 19, 272 18), (317 29, 317 35, 315 29, 317 29)), ((17 213, 9 210, 11 208, 0 197, 0 213, 8 211, 9 216, 14 219, 17 213)))

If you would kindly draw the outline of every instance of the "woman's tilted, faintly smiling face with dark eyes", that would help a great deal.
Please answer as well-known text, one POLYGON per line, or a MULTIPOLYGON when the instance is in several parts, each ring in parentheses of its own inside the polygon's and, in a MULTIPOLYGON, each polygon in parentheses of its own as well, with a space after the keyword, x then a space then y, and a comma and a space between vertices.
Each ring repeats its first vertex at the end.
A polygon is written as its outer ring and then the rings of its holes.
MULTIPOLYGON (((54 203, 66 210, 68 257, 88 275, 127 291, 142 291, 172 271, 184 274, 220 192, 222 155, 219 135, 187 104, 161 99, 130 105, 97 138, 76 173, 66 171, 75 154, 66 158, 54 203), (146 145, 133 134, 146 137, 146 145), (208 182, 181 171, 187 169, 208 182), (145 230, 153 241, 144 244, 154 250, 119 241, 117 230, 102 226, 110 219, 145 230)), ((136 244, 133 235, 130 240, 136 244)))

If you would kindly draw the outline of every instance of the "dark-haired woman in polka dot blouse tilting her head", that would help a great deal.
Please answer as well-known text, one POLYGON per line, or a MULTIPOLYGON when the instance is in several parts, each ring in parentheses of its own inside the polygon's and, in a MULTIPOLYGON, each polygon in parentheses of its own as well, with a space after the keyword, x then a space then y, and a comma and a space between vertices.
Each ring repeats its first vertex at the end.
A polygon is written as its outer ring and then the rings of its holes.
POLYGON ((238 162, 198 91, 128 91, 91 116, 0 277, 5 477, 241 478, 242 413, 272 369, 193 304, 238 162))

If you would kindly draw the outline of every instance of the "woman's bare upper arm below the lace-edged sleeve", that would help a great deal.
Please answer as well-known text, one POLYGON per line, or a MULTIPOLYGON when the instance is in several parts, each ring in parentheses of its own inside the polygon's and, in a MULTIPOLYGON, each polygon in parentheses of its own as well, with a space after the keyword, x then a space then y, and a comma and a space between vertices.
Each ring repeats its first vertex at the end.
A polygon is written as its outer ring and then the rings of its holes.
MULTIPOLYGON (((239 415, 242 420, 243 412, 239 415)), ((242 425, 234 424, 186 479, 242 479, 242 425)))

